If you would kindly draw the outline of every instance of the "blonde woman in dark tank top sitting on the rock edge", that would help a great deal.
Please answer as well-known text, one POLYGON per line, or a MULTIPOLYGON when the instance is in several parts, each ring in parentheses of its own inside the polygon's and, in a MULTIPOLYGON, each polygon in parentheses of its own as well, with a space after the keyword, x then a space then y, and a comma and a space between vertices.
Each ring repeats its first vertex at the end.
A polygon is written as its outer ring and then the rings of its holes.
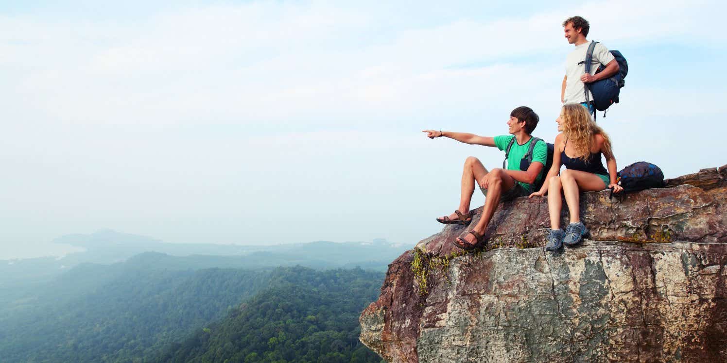
POLYGON ((580 220, 579 192, 608 188, 614 188, 614 192, 622 190, 616 184, 616 159, 611 152, 611 140, 596 125, 586 107, 577 103, 563 105, 555 122, 561 134, 555 136, 553 167, 548 171, 542 188, 530 195, 542 197, 547 194, 550 233, 545 250, 558 250, 563 244, 577 245, 588 233, 580 220), (606 157, 608 171, 603 167, 601 154, 606 157), (566 170, 558 176, 561 165, 566 166, 566 170), (565 231, 561 229, 561 190, 571 215, 571 223, 565 231))

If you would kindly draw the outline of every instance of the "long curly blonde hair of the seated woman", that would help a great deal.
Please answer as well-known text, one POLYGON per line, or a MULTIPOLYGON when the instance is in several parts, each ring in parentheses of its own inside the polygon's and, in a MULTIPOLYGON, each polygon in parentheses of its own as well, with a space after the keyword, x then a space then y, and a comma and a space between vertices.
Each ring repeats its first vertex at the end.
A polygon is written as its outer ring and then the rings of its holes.
POLYGON ((603 136, 603 154, 606 158, 610 158, 611 155, 611 139, 608 138, 606 131, 603 131, 598 126, 590 113, 583 105, 578 103, 569 103, 563 105, 561 109, 561 124, 563 125, 563 135, 566 139, 571 142, 576 155, 581 160, 586 160, 590 155, 590 150, 593 147, 593 141, 596 134, 603 136))

